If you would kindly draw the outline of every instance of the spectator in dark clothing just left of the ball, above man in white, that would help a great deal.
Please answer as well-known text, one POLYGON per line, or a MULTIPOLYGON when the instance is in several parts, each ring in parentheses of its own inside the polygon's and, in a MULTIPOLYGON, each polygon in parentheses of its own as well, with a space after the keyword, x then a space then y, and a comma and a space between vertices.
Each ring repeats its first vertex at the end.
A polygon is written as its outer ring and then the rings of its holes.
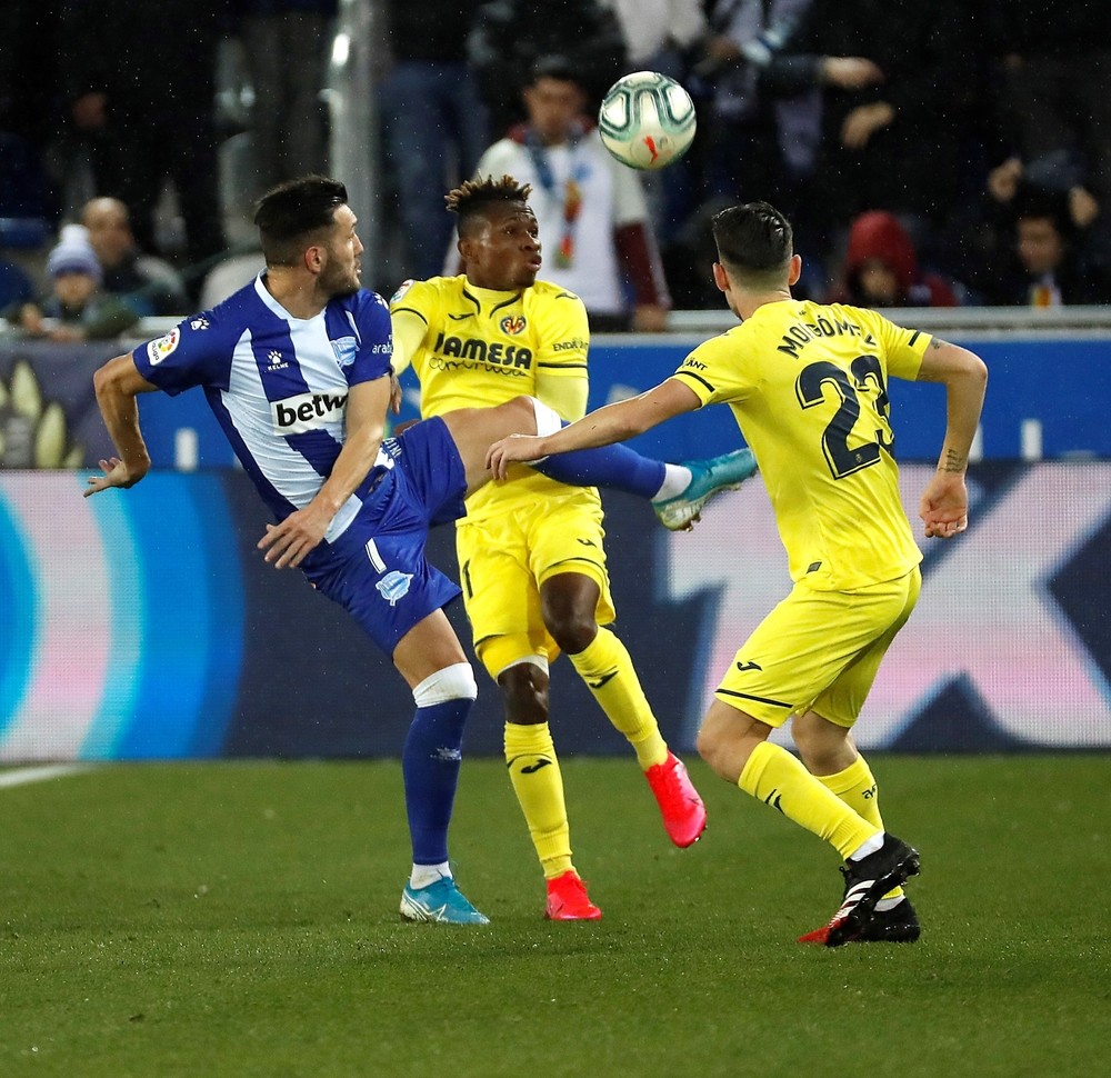
POLYGON ((567 57, 579 72, 584 108, 592 114, 628 70, 621 23, 603 0, 488 0, 478 9, 467 52, 496 139, 524 119, 520 93, 541 57, 567 57))

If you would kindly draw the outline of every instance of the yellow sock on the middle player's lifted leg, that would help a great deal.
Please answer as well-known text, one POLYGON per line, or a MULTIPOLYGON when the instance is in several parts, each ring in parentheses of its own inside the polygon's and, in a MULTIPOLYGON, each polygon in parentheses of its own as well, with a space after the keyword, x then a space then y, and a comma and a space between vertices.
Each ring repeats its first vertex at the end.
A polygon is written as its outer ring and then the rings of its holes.
POLYGON ((641 768, 647 771, 663 763, 668 745, 640 687, 632 658, 618 637, 600 628, 588 647, 568 658, 613 728, 633 747, 641 768))

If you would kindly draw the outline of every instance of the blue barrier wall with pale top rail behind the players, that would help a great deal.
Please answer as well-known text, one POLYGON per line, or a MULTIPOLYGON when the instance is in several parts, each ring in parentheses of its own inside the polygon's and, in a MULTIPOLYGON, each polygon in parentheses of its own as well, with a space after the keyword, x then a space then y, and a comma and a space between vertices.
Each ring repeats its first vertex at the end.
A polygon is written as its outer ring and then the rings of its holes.
MULTIPOLYGON (((1111 458, 1111 308, 1062 311, 904 311, 907 325, 944 332, 947 339, 979 352, 990 386, 974 455, 983 460, 1111 458), (1077 311, 1087 311, 1081 317, 1077 311), (1070 312, 1065 318, 1062 312, 1070 312), (944 315, 942 321, 940 316, 944 315), (989 317, 989 316, 994 316, 989 317), (1007 323, 999 325, 1007 316, 1007 323), (1044 316, 1044 317, 1042 317, 1044 316)), ((672 316, 680 332, 600 337, 591 346, 589 406, 634 396, 667 378, 683 357, 713 331, 728 328, 713 312, 672 316), (695 327, 698 331, 695 331, 695 327)), ((164 320, 148 325, 164 329, 164 320)), ((732 322, 735 325, 735 320, 732 322)), ((112 451, 92 396, 92 371, 123 350, 119 343, 74 347, 20 342, 0 337, 0 466, 41 463, 84 466, 112 451), (30 429, 28 416, 31 417, 30 429)), ((406 403, 400 420, 418 415, 411 371, 402 379, 406 403)), ((889 387, 900 460, 930 460, 944 422, 944 398, 937 386, 892 380, 889 387)), ((142 398, 143 430, 157 468, 233 466, 234 458, 199 390, 170 398, 142 398)), ((682 416, 642 435, 644 452, 682 460, 723 452, 737 443, 729 410, 713 406, 682 416)))

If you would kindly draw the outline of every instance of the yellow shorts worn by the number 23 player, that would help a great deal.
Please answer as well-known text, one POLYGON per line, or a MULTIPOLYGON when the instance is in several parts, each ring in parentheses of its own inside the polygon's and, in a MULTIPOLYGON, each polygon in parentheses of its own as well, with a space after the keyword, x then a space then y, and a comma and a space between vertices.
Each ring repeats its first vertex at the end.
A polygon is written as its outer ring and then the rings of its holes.
POLYGON ((714 696, 768 726, 813 710, 851 727, 921 587, 918 566, 855 591, 797 583, 744 641, 714 696))

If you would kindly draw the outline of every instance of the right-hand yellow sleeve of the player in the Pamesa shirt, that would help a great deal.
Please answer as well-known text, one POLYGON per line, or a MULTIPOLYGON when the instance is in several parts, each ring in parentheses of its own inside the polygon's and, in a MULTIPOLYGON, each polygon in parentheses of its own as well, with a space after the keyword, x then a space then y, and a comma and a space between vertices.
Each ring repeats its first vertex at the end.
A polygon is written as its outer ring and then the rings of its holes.
POLYGON ((558 291, 538 297, 533 318, 539 328, 537 397, 569 422, 582 419, 590 390, 587 309, 578 296, 558 291))

